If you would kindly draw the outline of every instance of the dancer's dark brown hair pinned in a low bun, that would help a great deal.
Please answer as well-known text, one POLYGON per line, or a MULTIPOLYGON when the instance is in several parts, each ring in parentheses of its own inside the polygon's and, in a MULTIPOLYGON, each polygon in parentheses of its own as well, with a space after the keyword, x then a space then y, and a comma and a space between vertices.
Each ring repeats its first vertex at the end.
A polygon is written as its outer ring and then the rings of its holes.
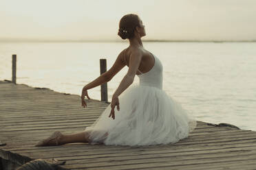
POLYGON ((120 19, 119 22, 118 36, 123 40, 126 38, 133 38, 136 26, 140 27, 138 15, 126 14, 125 16, 122 16, 122 19, 120 19))

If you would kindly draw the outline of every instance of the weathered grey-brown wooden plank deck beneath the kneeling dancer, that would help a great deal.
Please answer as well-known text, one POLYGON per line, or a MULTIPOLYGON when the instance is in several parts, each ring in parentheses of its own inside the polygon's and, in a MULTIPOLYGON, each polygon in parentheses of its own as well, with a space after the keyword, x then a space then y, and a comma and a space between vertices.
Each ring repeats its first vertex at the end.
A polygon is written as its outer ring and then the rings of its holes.
POLYGON ((0 146, 2 162, 56 158, 66 161, 63 169, 256 169, 256 132, 202 121, 189 138, 170 145, 34 147, 55 130, 84 130, 108 104, 91 99, 85 109, 78 95, 8 82, 0 82, 0 97, 0 141, 7 143, 0 146))

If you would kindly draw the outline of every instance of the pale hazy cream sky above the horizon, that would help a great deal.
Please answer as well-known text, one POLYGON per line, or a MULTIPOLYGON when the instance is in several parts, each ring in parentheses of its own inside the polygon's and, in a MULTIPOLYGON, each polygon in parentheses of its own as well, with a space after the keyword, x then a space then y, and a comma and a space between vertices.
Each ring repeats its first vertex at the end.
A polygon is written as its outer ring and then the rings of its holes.
POLYGON ((129 13, 145 40, 256 40, 256 0, 0 0, 0 39, 121 40, 129 13))

